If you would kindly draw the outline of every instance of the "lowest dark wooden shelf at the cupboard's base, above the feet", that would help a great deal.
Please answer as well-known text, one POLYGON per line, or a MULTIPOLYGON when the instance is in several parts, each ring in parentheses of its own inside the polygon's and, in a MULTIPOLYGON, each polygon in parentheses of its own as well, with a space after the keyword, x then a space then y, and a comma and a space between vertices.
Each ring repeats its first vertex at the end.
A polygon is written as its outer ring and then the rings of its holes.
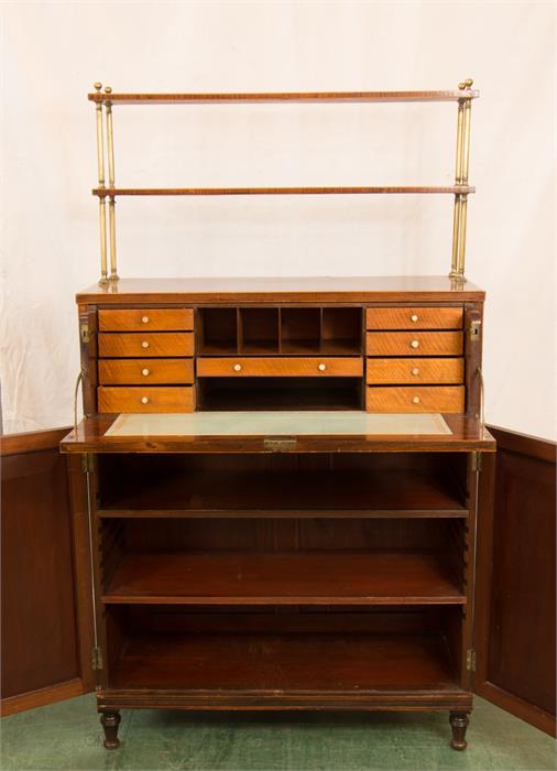
POLYGON ((157 633, 129 637, 109 688, 301 692, 365 699, 396 692, 462 693, 441 634, 157 633))

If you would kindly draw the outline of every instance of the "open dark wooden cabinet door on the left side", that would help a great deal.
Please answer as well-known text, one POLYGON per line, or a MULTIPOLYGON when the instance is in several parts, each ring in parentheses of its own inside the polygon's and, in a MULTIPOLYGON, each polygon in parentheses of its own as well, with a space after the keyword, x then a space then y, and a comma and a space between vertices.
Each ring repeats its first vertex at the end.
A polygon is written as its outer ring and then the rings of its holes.
POLYGON ((68 428, 2 437, 2 714, 90 691, 87 490, 68 428), (73 513, 72 513, 73 510, 73 513))

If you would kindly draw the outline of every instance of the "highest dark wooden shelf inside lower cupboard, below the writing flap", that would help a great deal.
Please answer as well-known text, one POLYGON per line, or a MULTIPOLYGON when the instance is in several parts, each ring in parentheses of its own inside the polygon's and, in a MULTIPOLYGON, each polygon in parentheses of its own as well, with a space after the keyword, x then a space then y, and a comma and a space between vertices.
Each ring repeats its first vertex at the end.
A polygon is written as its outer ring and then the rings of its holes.
POLYGON ((101 517, 467 517, 448 475, 427 470, 186 471, 114 479, 101 517))

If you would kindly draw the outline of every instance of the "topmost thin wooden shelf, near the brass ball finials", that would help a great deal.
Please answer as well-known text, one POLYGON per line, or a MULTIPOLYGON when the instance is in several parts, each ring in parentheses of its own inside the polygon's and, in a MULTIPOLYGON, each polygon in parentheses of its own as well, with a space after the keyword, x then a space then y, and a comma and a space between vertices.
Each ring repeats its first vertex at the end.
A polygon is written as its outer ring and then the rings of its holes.
POLYGON ((476 99, 471 88, 451 91, 282 91, 277 94, 89 94, 89 101, 119 105, 204 105, 250 102, 362 102, 362 101, 458 101, 476 99))

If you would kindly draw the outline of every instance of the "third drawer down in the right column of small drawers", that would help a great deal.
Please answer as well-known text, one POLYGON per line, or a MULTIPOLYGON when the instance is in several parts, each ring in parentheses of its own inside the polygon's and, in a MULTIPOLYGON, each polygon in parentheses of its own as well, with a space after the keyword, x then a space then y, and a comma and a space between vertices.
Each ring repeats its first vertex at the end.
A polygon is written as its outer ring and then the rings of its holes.
POLYGON ((462 383, 465 381, 463 359, 368 359, 367 380, 369 383, 418 386, 462 383))

